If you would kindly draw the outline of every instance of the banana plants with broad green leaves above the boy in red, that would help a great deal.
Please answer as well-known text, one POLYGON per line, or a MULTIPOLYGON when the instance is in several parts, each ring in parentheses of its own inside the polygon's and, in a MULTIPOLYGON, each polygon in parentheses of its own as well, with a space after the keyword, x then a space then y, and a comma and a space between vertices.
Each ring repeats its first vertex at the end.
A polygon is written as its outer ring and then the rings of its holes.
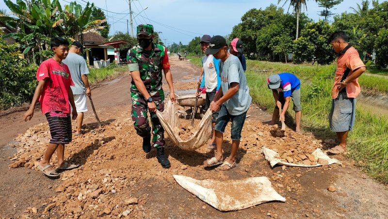
MULTIPOLYGON (((27 57, 39 54, 42 61, 42 51, 49 49, 49 39, 53 36, 67 37, 74 41, 78 39, 82 43, 82 33, 96 31, 105 20, 90 20, 94 4, 87 3, 82 9, 75 1, 65 5, 65 9, 59 0, 33 0, 24 2, 17 0, 4 0, 10 9, 11 16, 0 16, 0 21, 13 27, 16 32, 7 34, 16 39, 27 57)), ((33 58, 34 59, 34 58, 33 58)), ((30 59, 31 60, 31 59, 30 59)))

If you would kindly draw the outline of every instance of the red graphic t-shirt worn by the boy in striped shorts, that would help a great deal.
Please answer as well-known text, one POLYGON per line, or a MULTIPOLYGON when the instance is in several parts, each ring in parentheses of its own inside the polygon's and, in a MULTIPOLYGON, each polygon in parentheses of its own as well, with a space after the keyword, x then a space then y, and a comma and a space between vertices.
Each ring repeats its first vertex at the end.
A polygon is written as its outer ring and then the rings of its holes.
POLYGON ((71 80, 69 68, 50 58, 42 62, 36 72, 38 81, 45 78, 48 79, 39 98, 42 113, 53 111, 70 113, 68 89, 70 85, 74 86, 74 83, 71 80))

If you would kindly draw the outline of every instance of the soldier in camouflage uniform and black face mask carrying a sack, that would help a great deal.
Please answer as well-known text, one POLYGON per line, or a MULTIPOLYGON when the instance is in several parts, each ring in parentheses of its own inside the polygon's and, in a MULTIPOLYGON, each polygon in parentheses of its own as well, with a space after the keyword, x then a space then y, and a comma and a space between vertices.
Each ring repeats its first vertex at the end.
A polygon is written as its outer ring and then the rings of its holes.
POLYGON ((164 109, 162 89, 162 69, 170 88, 170 99, 175 101, 173 79, 168 62, 167 49, 154 44, 154 28, 150 24, 137 27, 139 44, 128 51, 127 62, 132 76, 130 95, 132 98, 132 120, 138 135, 143 137, 143 150, 151 151, 151 127, 148 124, 149 110, 152 124, 152 145, 157 150, 157 158, 163 168, 169 168, 170 162, 164 155, 164 129, 156 116, 156 110, 164 109))

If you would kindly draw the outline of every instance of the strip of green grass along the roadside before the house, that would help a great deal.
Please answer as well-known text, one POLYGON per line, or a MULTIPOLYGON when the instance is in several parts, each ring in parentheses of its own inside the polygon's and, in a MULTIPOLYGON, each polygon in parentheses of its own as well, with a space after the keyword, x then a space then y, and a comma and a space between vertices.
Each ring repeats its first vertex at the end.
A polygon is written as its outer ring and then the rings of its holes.
POLYGON ((127 66, 122 67, 104 67, 104 68, 92 68, 88 75, 90 84, 100 83, 108 78, 113 78, 120 75, 123 72, 128 71, 127 66))

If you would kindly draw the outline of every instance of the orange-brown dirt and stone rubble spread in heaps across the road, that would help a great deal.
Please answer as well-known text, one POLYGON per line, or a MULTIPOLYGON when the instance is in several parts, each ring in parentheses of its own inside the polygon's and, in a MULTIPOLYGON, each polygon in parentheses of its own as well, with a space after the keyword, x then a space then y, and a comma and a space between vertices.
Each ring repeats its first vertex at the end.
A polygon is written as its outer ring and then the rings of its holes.
MULTIPOLYGON (((181 119, 180 122, 183 128, 179 133, 185 138, 193 134, 200 120, 195 119, 193 127, 190 127, 190 120, 181 119)), ((65 146, 65 160, 80 164, 80 168, 62 172, 60 176, 62 184, 53 188, 58 194, 49 200, 42 200, 40 206, 29 207, 26 216, 42 217, 55 212, 59 218, 151 217, 145 215, 144 210, 148 196, 152 195, 148 183, 152 180, 160 182, 158 186, 162 186, 163 189, 177 189, 174 187, 176 183, 173 174, 220 181, 233 179, 235 175, 242 178, 267 176, 281 195, 285 192, 302 194, 303 186, 298 183, 301 174, 296 176, 289 174, 287 169, 274 172, 271 169, 258 168, 269 166, 262 160, 261 148, 265 146, 280 154, 283 151, 291 151, 288 156, 297 160, 294 157, 299 153, 310 153, 312 149, 322 148, 322 145, 313 136, 290 130, 285 132, 284 137, 275 137, 271 135, 273 129, 273 126, 257 121, 245 122, 241 147, 237 152, 239 167, 242 168, 234 168, 232 170, 234 173, 230 175, 228 172, 204 169, 203 161, 214 154, 208 147, 202 147, 194 152, 184 152, 172 145, 168 137, 166 152, 170 154, 171 168, 163 169, 157 159, 152 157, 155 156, 155 150, 147 155, 142 152, 139 146, 142 139, 136 135, 133 122, 125 113, 117 115, 114 122, 104 125, 103 128, 88 125, 85 127, 84 135, 74 136, 73 141, 65 146), (260 163, 258 160, 261 160, 260 163)), ((10 157, 14 160, 10 167, 36 169, 34 163, 42 158, 49 139, 49 127, 46 123, 36 125, 26 133, 18 135, 16 140, 19 141, 19 145, 16 146, 16 155, 10 157)), ((224 134, 225 157, 230 153, 230 143, 229 123, 224 134)), ((56 165, 55 154, 51 164, 56 165)), ((158 187, 153 192, 159 191, 158 187)))

